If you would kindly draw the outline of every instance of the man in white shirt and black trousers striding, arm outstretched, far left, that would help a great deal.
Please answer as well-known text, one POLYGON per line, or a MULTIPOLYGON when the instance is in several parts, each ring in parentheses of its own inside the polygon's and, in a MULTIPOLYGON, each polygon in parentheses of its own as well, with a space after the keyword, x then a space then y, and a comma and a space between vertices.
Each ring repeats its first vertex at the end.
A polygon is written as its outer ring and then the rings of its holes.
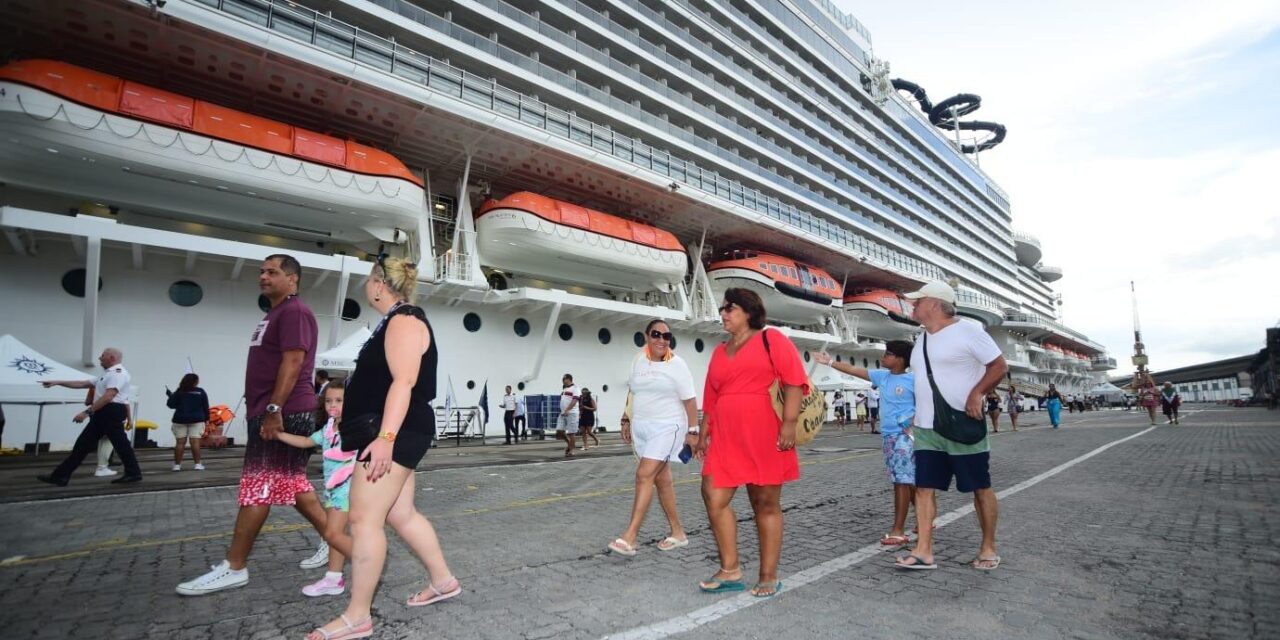
MULTIPOLYGON (((93 401, 84 411, 76 413, 72 421, 79 424, 88 420, 72 452, 63 460, 51 474, 36 476, 42 483, 58 486, 67 486, 72 474, 79 467, 91 452, 99 448, 99 440, 108 438, 111 445, 120 454, 124 462, 124 475, 111 480, 111 484, 138 483, 142 480, 142 467, 129 445, 129 438, 124 435, 125 424, 129 422, 129 372, 124 369, 124 353, 120 349, 109 347, 97 356, 97 364, 102 366, 102 375, 96 380, 45 380, 45 388, 67 387, 68 389, 92 389, 93 401)), ((110 456, 110 453, 108 453, 110 456)), ((101 467, 101 465, 99 465, 101 467)), ((97 474, 95 474, 97 475, 97 474)))

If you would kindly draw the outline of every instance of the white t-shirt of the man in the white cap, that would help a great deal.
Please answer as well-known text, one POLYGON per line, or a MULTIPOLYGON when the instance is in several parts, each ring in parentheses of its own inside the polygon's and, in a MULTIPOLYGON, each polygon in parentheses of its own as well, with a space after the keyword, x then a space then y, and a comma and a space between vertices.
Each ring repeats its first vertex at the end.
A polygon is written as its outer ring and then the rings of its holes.
MULTIPOLYGON (((969 393, 987 374, 987 365, 1002 353, 996 340, 974 323, 957 321, 928 337, 933 381, 947 404, 964 411, 969 393)), ((933 389, 924 366, 924 333, 911 349, 911 371, 915 371, 915 425, 933 429, 933 389)))

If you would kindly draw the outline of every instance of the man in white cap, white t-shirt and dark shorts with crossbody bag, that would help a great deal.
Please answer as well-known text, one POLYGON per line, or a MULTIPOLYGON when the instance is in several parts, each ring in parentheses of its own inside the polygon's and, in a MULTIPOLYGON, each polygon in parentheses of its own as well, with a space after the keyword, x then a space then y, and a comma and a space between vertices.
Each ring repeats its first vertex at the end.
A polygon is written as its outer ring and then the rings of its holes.
POLYGON ((982 544, 970 562, 973 568, 991 571, 1000 566, 996 553, 996 492, 991 488, 991 439, 984 433, 982 408, 987 392, 995 389, 1009 365, 1000 347, 980 325, 955 316, 955 289, 943 282, 927 283, 908 293, 915 300, 911 316, 924 328, 920 344, 911 352, 911 369, 925 371, 915 376, 915 517, 919 538, 908 556, 897 558, 904 570, 937 568, 933 558, 934 494, 951 488, 973 493, 982 544), (963 407, 956 410, 955 407, 963 407), (961 412, 963 411, 963 412, 961 412), (956 415, 961 413, 961 415, 956 415), (964 444, 938 433, 937 428, 956 425, 968 416, 982 430, 982 439, 964 444))

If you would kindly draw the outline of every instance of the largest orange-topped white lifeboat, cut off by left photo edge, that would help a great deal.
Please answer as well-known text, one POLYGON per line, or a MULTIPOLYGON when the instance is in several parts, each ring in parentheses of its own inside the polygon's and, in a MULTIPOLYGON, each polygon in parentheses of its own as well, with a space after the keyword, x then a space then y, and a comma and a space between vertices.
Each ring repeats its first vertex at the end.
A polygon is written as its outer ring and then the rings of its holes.
POLYGON ((422 182, 355 142, 52 60, 0 67, 0 180, 306 239, 397 242, 422 182))

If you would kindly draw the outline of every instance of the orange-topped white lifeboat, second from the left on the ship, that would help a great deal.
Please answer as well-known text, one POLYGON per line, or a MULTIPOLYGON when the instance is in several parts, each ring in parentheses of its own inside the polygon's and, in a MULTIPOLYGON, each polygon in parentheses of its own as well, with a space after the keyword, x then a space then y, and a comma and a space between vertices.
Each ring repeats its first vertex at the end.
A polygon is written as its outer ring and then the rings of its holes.
POLYGON ((476 211, 486 266, 625 291, 672 292, 689 273, 669 232, 526 191, 476 211))

